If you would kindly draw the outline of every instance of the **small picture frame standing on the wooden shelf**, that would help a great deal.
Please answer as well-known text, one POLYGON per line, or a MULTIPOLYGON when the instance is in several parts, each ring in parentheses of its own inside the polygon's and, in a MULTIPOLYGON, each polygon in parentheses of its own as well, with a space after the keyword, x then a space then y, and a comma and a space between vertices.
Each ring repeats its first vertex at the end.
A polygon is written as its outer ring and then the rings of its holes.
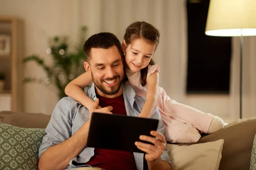
POLYGON ((0 34, 0 56, 11 54, 11 36, 0 34))

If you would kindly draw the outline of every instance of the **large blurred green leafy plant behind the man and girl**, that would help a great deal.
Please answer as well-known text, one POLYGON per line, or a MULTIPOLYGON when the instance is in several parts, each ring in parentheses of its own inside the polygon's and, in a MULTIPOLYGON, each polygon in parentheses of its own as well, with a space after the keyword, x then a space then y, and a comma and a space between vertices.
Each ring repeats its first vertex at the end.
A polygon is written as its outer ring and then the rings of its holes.
POLYGON ((35 82, 45 87, 49 85, 55 85, 58 89, 59 99, 66 96, 64 90, 66 85, 74 78, 84 73, 83 62, 86 61, 83 51, 83 43, 85 42, 85 32, 87 28, 84 26, 81 28, 79 34, 79 42, 76 43, 75 50, 69 52, 70 44, 68 37, 55 36, 49 39, 49 48, 47 54, 50 54, 53 59, 52 65, 47 65, 44 59, 31 55, 23 59, 23 62, 36 62, 47 74, 44 79, 38 79, 35 77, 26 77, 23 82, 35 82))

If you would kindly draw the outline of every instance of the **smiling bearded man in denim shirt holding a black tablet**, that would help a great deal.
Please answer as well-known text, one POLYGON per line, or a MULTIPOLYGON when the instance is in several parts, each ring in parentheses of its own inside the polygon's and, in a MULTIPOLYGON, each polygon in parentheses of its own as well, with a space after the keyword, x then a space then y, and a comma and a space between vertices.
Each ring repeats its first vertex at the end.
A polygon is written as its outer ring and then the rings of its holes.
MULTIPOLYGON (((121 44, 115 35, 99 33, 91 36, 84 43, 84 53, 88 61, 84 67, 94 82, 85 93, 95 102, 90 112, 71 97, 64 97, 58 102, 39 148, 38 169, 97 167, 105 170, 143 170, 143 153, 85 147, 93 111, 138 116, 145 99, 135 96, 131 86, 122 83, 125 74, 121 44), (96 109, 98 104, 102 109, 96 109)), ((152 118, 159 119, 158 132, 151 132, 155 137, 140 136, 140 139, 154 145, 142 142, 136 142, 136 145, 145 151, 149 170, 171 170, 166 141, 161 134, 164 125, 158 110, 152 118)))

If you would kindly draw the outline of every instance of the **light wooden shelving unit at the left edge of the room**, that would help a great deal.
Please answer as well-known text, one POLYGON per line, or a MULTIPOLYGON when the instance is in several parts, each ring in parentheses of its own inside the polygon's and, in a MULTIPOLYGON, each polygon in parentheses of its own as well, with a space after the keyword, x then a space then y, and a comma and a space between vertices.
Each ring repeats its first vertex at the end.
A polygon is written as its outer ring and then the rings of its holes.
POLYGON ((22 20, 16 17, 0 16, 0 33, 9 34, 12 37, 10 54, 0 56, 0 71, 6 74, 5 86, 9 89, 0 91, 0 94, 10 96, 11 111, 23 111, 23 28, 22 20))

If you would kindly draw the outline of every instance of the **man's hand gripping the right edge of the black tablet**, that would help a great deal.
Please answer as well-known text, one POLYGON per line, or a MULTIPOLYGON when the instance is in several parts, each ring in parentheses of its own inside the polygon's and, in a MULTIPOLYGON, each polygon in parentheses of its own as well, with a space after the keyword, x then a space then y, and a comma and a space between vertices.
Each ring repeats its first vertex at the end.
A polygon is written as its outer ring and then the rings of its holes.
POLYGON ((163 153, 163 150, 166 148, 166 140, 164 136, 161 133, 158 133, 157 131, 152 130, 150 134, 151 136, 145 136, 141 135, 140 140, 151 142, 152 144, 145 144, 143 142, 135 142, 135 145, 138 149, 144 151, 145 159, 148 162, 153 162, 160 158, 160 155, 163 153))

